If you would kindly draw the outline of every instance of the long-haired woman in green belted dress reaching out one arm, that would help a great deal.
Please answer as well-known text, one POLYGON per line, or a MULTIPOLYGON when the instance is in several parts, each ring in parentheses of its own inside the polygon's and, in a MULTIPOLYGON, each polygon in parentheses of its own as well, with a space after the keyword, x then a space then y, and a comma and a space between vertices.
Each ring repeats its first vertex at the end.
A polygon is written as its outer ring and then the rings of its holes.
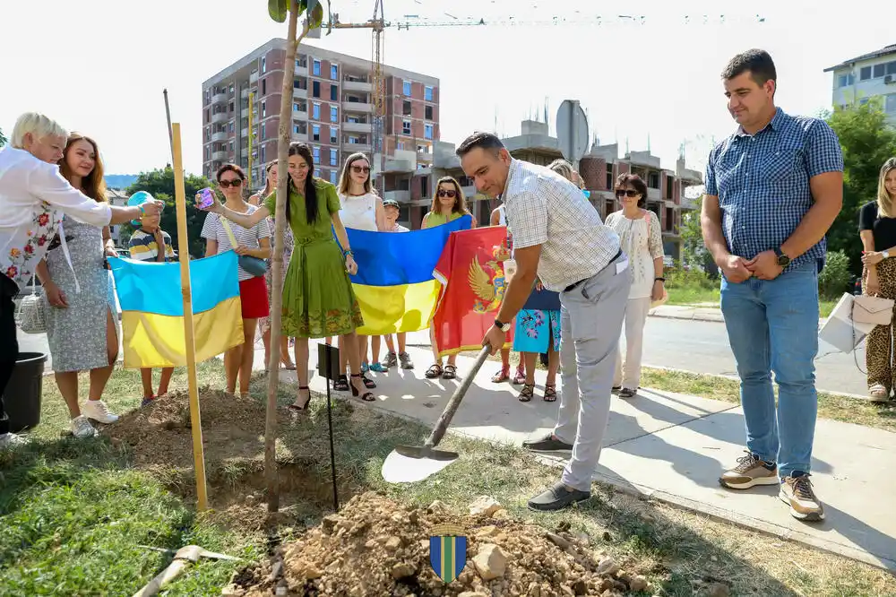
MULTIPOLYGON (((341 336, 341 346, 349 353, 351 394, 366 402, 375 400, 361 379, 358 336, 364 324, 358 299, 351 288, 349 273, 358 272, 349 238, 339 218, 340 201, 336 187, 315 178, 311 148, 305 143, 289 145, 289 202, 286 218, 292 229, 295 248, 283 281, 282 333, 296 338, 298 395, 289 408, 304 411, 311 401, 308 389, 308 339, 341 336), (332 226, 332 229, 331 229, 332 226), (339 245, 333 238, 333 231, 339 245), (345 250, 340 250, 340 245, 345 250)), ((200 195, 196 195, 197 203, 200 195)), ((251 228, 275 212, 274 191, 251 215, 233 212, 217 198, 207 211, 218 213, 244 228, 251 228)))

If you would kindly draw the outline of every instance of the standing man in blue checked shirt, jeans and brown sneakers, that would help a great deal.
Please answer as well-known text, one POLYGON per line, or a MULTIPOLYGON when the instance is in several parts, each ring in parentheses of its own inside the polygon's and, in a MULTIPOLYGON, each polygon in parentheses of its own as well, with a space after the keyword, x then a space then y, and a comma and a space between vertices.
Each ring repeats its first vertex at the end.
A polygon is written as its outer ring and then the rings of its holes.
POLYGON ((702 230, 723 274, 721 309, 741 379, 747 454, 719 483, 779 486, 791 515, 819 521, 824 510, 809 480, 818 273, 824 235, 843 201, 843 155, 823 120, 775 108, 777 74, 767 52, 735 56, 722 81, 740 126, 710 154, 702 230))

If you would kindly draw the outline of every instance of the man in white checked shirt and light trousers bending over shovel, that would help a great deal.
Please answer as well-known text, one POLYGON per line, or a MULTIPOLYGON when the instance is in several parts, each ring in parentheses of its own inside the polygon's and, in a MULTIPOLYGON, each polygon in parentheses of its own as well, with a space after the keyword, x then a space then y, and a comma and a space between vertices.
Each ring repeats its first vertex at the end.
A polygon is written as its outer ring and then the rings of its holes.
POLYGON ((585 195, 550 169, 514 160, 494 135, 473 134, 457 149, 480 193, 504 200, 517 270, 483 346, 504 345, 536 276, 560 293, 560 410, 553 433, 523 446, 572 450, 563 476, 532 497, 536 510, 558 510, 590 497, 591 478, 610 410, 616 348, 632 284, 619 237, 585 195))

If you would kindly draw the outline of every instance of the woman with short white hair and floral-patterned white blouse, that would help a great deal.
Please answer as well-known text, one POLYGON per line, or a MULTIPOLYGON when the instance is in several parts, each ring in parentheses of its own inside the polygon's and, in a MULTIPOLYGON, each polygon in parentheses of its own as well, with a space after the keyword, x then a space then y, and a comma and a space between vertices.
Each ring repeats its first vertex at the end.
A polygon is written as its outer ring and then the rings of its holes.
MULTIPOLYGON (((23 114, 13 127, 10 144, 0 150, 0 396, 19 356, 13 297, 30 281, 56 237, 59 221, 69 215, 101 229, 141 214, 156 215, 161 202, 138 207, 98 203, 69 184, 59 172, 68 131, 43 116, 23 114)), ((0 449, 22 438, 9 433, 0 398, 0 449)))

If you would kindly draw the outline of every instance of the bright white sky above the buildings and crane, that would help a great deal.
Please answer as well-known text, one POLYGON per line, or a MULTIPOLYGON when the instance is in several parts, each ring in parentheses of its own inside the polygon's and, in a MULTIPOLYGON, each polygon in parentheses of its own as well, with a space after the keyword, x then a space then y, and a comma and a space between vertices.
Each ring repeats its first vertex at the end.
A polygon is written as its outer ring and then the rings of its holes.
MULTIPOLYGON (((520 121, 547 98, 551 133, 563 99, 580 99, 602 143, 651 149, 674 168, 686 141, 689 165, 702 169, 710 140, 734 125, 725 109, 719 72, 738 51, 765 48, 778 65, 779 105, 814 114, 831 102, 831 74, 823 68, 896 42, 875 23, 891 23, 896 4, 857 0, 834 4, 788 0, 747 8, 743 3, 647 0, 384 0, 387 19, 418 14, 550 20, 593 18, 602 27, 489 26, 387 30, 385 61, 441 79, 442 139, 459 142, 477 128, 519 134, 520 121), (538 5, 537 4, 541 4, 538 5), (647 17, 625 24, 618 14, 647 17), (706 25, 683 24, 685 13, 706 25), (756 23, 749 14, 761 13, 756 23), (719 14, 726 14, 725 24, 719 14), (737 21, 737 22, 735 22, 737 21)), ((363 21, 372 0, 332 0, 340 20, 363 21)), ((0 60, 0 128, 39 110, 71 130, 95 137, 108 173, 135 173, 164 165, 168 136, 162 89, 183 127, 185 165, 202 165, 202 81, 268 39, 285 37, 262 0, 49 0, 39 12, 25 3, 0 5, 4 59, 0 60), (125 10, 126 8, 126 10, 125 10), (139 11, 142 9, 142 12, 139 11)), ((370 56, 369 30, 333 31, 311 42, 370 56)))

